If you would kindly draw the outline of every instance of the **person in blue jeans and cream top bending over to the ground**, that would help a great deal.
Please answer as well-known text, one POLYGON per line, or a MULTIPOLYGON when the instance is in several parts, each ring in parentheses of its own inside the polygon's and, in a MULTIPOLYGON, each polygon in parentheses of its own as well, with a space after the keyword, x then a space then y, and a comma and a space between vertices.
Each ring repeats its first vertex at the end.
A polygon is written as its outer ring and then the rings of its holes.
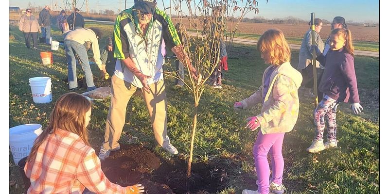
POLYGON ((101 37, 100 30, 94 28, 80 28, 73 31, 69 31, 64 34, 64 36, 65 53, 66 58, 68 59, 69 89, 73 91, 78 88, 76 58, 79 59, 80 65, 84 70, 88 91, 96 89, 93 83, 93 75, 88 61, 87 49, 85 49, 84 44, 87 42, 90 43, 93 52, 94 62, 102 71, 103 69, 100 60, 100 49, 98 42, 98 38, 101 37))

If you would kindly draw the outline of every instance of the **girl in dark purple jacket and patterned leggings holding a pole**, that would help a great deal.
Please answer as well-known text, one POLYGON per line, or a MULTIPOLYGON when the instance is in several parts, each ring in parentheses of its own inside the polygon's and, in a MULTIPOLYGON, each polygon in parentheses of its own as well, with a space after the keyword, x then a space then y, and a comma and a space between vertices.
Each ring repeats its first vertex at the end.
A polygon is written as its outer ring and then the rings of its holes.
POLYGON ((319 90, 323 99, 314 112, 315 139, 306 150, 311 153, 326 148, 337 147, 336 140, 336 107, 344 101, 351 103, 355 114, 363 110, 359 104, 358 87, 354 69, 354 47, 351 32, 348 29, 335 29, 330 34, 330 50, 324 56, 318 47, 317 59, 325 65, 319 90), (327 142, 323 144, 324 120, 327 123, 327 142))

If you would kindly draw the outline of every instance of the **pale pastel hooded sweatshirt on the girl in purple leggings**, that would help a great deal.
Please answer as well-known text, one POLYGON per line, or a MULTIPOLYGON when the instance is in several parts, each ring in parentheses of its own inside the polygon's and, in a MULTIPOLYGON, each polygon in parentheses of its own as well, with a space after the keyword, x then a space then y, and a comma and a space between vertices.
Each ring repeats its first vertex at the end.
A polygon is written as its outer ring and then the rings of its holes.
POLYGON ((266 94, 263 94, 264 79, 269 69, 271 66, 266 68, 259 89, 241 103, 243 109, 247 109, 265 99, 261 113, 256 116, 261 124, 262 134, 289 132, 295 126, 299 116, 297 90, 301 85, 302 76, 289 62, 285 62, 273 70, 269 89, 266 94))

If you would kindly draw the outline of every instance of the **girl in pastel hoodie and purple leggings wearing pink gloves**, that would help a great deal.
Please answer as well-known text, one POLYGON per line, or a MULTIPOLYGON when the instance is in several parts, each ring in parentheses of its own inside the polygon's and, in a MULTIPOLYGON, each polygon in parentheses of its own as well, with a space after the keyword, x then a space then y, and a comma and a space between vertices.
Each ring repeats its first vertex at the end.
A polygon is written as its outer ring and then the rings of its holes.
POLYGON ((243 190, 242 194, 283 194, 283 137, 293 129, 299 115, 299 95, 302 76, 290 65, 290 49, 280 30, 268 30, 258 40, 257 49, 269 67, 262 85, 250 97, 234 103, 234 109, 247 109, 263 103, 261 113, 249 117, 246 128, 259 128, 253 147, 258 190, 243 190), (272 176, 267 154, 270 152, 272 176))

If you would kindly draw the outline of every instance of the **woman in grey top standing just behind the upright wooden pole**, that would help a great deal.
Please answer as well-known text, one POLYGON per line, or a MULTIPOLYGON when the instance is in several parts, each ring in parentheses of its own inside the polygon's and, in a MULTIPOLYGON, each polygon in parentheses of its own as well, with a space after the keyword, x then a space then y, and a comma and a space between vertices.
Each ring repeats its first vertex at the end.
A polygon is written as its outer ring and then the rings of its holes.
MULTIPOLYGON (((311 22, 308 24, 311 26, 311 22)), ((301 86, 305 87, 304 96, 305 97, 315 97, 312 93, 313 88, 313 65, 312 65, 312 53, 309 51, 311 45, 315 44, 321 50, 324 49, 324 43, 320 38, 319 32, 323 28, 323 22, 321 19, 315 19, 315 43, 312 43, 312 29, 309 29, 305 32, 304 37, 302 38, 300 53, 299 53, 299 65, 297 69, 301 70, 302 74, 302 83, 301 86)), ((322 66, 318 61, 316 61, 316 71, 318 77, 323 73, 322 66)))

